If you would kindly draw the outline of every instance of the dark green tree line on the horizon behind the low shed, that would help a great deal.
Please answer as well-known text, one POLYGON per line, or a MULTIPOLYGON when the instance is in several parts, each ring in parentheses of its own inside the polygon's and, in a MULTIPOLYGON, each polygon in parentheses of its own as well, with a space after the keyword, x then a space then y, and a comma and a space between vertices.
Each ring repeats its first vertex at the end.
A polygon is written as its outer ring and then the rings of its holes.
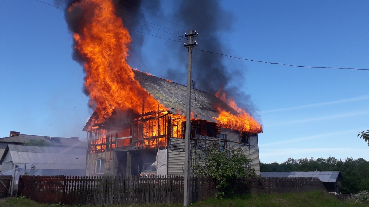
POLYGON ((261 163, 261 172, 289 171, 340 171, 342 174, 341 193, 358 193, 369 190, 369 161, 363 158, 345 160, 329 156, 324 158, 288 158, 285 162, 261 163))

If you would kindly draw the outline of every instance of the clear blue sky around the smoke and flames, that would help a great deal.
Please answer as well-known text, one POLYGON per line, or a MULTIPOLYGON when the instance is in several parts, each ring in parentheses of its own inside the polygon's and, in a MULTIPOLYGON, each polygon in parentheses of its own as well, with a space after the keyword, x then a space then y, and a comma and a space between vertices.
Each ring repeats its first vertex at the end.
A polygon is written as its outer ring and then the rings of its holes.
MULTIPOLYGON (((44 1, 54 4, 54 0, 44 1)), ((169 17, 170 1, 163 5, 162 17, 169 17)), ((227 55, 369 69, 369 1, 230 0, 222 5, 234 17, 221 37, 227 55)), ((92 111, 82 92, 82 66, 71 57, 72 36, 63 11, 35 0, 3 0, 0 28, 0 137, 9 131, 86 137, 82 128, 92 111)), ((170 51, 157 52, 165 44, 163 39, 145 36, 144 66, 133 67, 156 76, 163 76, 162 68, 185 71, 186 66, 174 62, 170 51)), ((201 48, 201 42, 198 48, 207 49, 201 48)), ((261 162, 329 155, 369 160, 368 145, 356 137, 358 131, 369 129, 369 71, 297 68, 232 58, 225 62, 230 71, 234 66, 242 69, 239 87, 258 109, 264 126, 259 134, 261 162)))

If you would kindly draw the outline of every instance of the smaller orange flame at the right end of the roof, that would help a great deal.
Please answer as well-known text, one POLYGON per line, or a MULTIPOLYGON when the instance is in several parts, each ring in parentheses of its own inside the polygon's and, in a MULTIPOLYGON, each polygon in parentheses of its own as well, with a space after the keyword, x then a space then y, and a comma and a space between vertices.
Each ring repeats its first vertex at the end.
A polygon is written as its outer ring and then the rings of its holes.
POLYGON ((238 115, 232 115, 230 112, 227 112, 222 108, 218 108, 219 117, 214 117, 214 119, 220 122, 223 127, 250 133, 261 133, 263 131, 263 127, 256 122, 252 116, 246 113, 245 110, 238 108, 234 99, 226 98, 223 90, 218 91, 215 96, 239 113, 238 115))

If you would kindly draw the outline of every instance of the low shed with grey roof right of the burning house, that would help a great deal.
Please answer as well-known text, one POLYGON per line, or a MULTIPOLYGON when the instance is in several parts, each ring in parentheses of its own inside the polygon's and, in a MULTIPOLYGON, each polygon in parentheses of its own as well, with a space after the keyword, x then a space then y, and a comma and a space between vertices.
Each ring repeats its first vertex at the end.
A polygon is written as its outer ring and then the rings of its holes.
POLYGON ((339 171, 311 171, 311 172, 261 172, 262 177, 272 178, 301 178, 313 177, 319 178, 328 192, 339 193, 341 186, 342 174, 339 171))

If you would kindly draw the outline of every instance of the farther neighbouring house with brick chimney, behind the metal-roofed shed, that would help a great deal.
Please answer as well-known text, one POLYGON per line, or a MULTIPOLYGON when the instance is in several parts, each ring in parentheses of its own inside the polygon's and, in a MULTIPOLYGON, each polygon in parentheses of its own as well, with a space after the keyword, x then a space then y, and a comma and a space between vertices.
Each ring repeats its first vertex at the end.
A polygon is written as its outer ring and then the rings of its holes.
MULTIPOLYGON (((87 143, 86 141, 80 141, 78 137, 49 137, 49 136, 35 136, 28 134, 20 134, 17 131, 10 131, 9 137, 0 138, 0 157, 4 154, 4 151, 8 144, 17 144, 23 145, 25 142, 28 142, 32 139, 36 140, 45 140, 45 143, 49 144, 52 147, 61 147, 61 148, 77 148, 82 149, 86 153, 87 143)), ((0 172, 1 172, 1 164, 0 164, 0 172)))

